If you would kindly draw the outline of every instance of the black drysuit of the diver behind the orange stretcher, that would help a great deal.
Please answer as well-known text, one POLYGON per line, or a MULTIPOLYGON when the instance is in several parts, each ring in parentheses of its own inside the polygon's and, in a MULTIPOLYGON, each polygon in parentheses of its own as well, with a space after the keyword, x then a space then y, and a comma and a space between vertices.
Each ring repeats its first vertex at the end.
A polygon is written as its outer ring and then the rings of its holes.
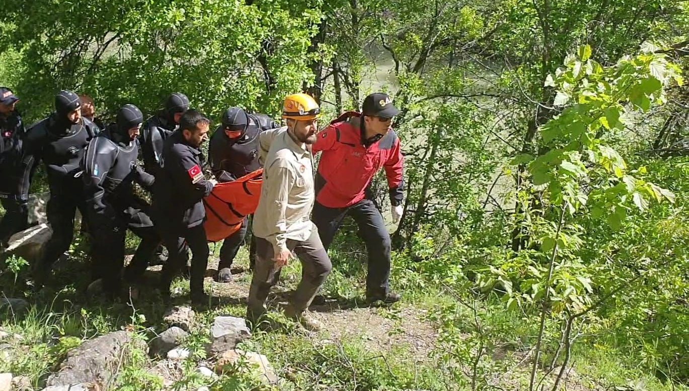
MULTIPOLYGON (((231 182, 260 169, 258 135, 261 131, 280 127, 280 124, 265 114, 249 114, 243 135, 236 139, 229 138, 225 134, 224 127, 225 125, 220 125, 216 129, 211 136, 208 147, 211 169, 218 182, 231 182)), ((247 235, 247 225, 248 219, 245 219, 238 231, 223 240, 223 246, 220 247, 218 271, 232 266, 234 257, 236 257, 247 235)), ((251 269, 254 268, 256 262, 255 254, 256 244, 252 237, 249 248, 251 269)))

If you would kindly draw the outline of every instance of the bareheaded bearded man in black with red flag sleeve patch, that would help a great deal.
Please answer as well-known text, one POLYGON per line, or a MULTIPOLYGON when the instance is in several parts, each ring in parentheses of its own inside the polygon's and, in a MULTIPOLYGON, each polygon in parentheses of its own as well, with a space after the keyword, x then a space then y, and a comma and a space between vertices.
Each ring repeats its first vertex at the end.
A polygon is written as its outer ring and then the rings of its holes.
POLYGON ((207 140, 209 124, 210 120, 194 109, 181 116, 179 129, 165 140, 153 191, 154 222, 168 251, 161 275, 163 295, 169 296, 172 279, 186 262, 186 242, 192 250, 191 299, 199 305, 208 301, 203 292, 209 255, 203 198, 216 183, 203 178, 201 169, 204 157, 200 147, 207 140))

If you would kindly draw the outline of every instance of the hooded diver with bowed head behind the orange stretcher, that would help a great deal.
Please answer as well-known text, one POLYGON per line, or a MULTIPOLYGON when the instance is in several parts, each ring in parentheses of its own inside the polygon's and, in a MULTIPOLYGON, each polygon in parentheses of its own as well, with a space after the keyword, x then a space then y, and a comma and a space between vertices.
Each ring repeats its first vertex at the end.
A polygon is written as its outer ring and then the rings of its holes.
MULTIPOLYGON (((247 114, 240 107, 230 107, 223 114, 223 121, 216 129, 208 146, 211 169, 218 182, 231 182, 260 169, 258 162, 258 135, 267 129, 276 129, 280 124, 265 114, 247 114)), ((227 237, 220 247, 218 282, 231 282, 230 267, 239 247, 247 235, 249 219, 242 227, 227 237)), ((249 262, 254 269, 255 240, 251 238, 249 262)))

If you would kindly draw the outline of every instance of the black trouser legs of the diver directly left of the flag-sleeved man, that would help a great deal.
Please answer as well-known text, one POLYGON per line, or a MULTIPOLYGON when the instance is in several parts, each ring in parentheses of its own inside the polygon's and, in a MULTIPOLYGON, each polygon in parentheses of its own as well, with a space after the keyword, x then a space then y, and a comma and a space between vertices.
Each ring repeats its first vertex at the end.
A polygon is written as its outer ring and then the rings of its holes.
POLYGON ((127 217, 125 214, 110 221, 95 217, 89 219, 94 223, 91 227, 92 278, 102 278, 104 290, 113 295, 121 291, 121 277, 125 282, 132 283, 143 275, 156 247, 161 244, 161 237, 153 226, 140 226, 127 217), (141 242, 122 276, 127 229, 140 237, 141 242))

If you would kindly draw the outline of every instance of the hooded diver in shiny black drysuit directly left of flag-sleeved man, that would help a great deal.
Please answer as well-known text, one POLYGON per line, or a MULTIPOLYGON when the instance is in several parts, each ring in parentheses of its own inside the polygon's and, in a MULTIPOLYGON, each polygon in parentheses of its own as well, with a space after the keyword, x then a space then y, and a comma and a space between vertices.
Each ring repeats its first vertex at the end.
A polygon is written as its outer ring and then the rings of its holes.
POLYGON ((161 240, 149 217, 149 204, 134 193, 132 182, 150 190, 154 177, 136 162, 141 110, 124 105, 99 136, 89 142, 81 167, 86 204, 92 223, 93 279, 103 279, 105 293, 121 293, 121 269, 125 257, 127 228, 141 238, 136 253, 125 268, 128 284, 141 277, 161 240))

